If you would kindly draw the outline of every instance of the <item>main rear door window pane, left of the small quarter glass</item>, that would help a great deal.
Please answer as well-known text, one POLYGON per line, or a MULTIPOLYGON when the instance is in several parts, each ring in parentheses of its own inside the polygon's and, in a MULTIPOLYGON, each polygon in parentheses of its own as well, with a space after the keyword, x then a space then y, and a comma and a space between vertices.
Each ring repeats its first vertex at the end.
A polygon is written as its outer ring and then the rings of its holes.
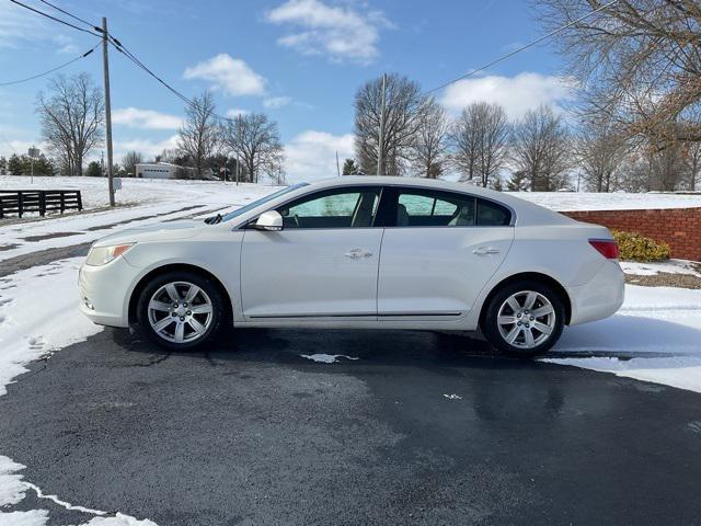
POLYGON ((398 227, 474 226, 474 197, 424 190, 402 190, 397 199, 398 227))

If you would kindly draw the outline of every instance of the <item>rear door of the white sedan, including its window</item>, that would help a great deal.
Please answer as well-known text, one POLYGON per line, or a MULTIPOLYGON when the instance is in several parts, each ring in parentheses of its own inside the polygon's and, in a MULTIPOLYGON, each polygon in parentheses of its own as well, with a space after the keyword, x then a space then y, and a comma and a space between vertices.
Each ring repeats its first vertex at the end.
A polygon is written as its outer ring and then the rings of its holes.
POLYGON ((513 211, 457 192, 386 194, 394 217, 382 239, 378 317, 460 318, 510 249, 513 211))

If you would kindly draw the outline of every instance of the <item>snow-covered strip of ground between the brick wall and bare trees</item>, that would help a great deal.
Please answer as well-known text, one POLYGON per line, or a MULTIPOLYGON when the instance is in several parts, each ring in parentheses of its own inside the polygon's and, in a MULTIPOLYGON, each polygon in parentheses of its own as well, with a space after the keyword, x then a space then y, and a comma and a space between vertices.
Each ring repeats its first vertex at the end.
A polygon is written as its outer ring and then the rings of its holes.
POLYGON ((585 192, 517 192, 514 197, 530 201, 556 211, 633 210, 701 207, 699 194, 597 194, 585 192))

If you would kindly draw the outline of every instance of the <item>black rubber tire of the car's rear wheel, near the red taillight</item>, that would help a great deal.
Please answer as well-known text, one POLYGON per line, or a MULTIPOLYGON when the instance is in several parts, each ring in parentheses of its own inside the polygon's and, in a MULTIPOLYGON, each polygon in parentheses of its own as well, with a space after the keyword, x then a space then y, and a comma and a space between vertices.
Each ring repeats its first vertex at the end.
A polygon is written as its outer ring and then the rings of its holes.
POLYGON ((510 283, 502 287, 499 290, 497 290, 496 294, 492 296, 492 298, 485 306, 481 329, 482 333, 486 338, 486 341, 497 351, 512 356, 530 357, 547 353, 558 342, 562 334, 564 320, 565 306, 561 296, 555 290, 540 282, 522 281, 510 283), (537 297, 537 302, 531 308, 536 310, 538 308, 545 307, 544 310, 547 310, 547 304, 542 302, 542 300, 544 299, 550 302, 554 319, 551 319, 549 316, 543 316, 531 320, 530 315, 532 315, 533 312, 530 312, 528 310, 515 311, 515 309, 510 308, 510 306, 506 307, 507 299, 513 297, 514 295, 517 295, 516 300, 519 304, 521 298, 524 299, 524 304, 526 304, 525 299, 527 298, 528 291, 533 291, 540 295, 537 297), (499 316, 499 310, 503 308, 503 306, 505 307, 503 315, 508 315, 504 316, 504 318, 509 318, 513 313, 514 319, 518 320, 514 324, 502 325, 502 329, 505 332, 509 330, 508 334, 512 333, 510 330, 515 330, 518 333, 517 339, 514 341, 514 343, 509 343, 509 341, 507 341, 499 331, 497 319, 499 316), (528 312, 528 315, 524 315, 524 312, 528 312), (537 329, 536 324, 538 324, 538 327, 543 327, 543 329, 548 327, 551 330, 550 334, 541 332, 539 329, 537 329), (526 329, 526 327, 528 327, 529 329, 526 329), (535 342, 538 341, 541 334, 545 335, 545 338, 535 346, 528 346, 525 334, 526 331, 530 332, 531 338, 536 335, 533 340, 535 342))

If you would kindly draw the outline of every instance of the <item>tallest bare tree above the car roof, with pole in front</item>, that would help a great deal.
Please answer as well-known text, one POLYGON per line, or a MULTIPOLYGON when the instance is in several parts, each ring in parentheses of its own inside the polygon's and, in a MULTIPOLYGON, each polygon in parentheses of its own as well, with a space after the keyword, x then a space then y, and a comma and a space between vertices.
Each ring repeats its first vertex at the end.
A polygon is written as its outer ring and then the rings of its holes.
POLYGON ((363 85, 355 95, 355 152, 364 173, 377 173, 380 128, 382 165, 379 173, 401 175, 411 159, 426 98, 416 82, 397 73, 363 85), (382 112, 384 99, 384 112, 382 112))

